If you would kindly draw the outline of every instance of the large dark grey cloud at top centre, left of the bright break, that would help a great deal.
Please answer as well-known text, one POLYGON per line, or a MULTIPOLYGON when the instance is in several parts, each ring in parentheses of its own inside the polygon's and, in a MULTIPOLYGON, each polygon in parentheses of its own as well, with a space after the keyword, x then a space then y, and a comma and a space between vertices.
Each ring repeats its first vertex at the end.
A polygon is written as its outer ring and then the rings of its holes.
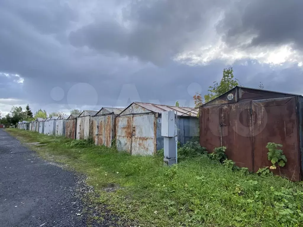
POLYGON ((218 0, 132 1, 122 10, 126 26, 115 18, 97 19, 72 32, 70 41, 77 47, 88 46, 101 53, 114 51, 163 66, 200 43, 213 15, 224 5, 218 0))

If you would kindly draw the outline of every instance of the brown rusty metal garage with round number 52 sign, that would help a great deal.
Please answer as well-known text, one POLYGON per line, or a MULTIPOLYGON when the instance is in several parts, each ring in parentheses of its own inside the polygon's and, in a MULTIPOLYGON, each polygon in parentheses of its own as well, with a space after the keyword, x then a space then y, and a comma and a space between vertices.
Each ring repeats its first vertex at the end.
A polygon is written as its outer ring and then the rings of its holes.
POLYGON ((257 171, 271 166, 267 143, 280 143, 288 160, 281 173, 299 181, 302 118, 301 95, 237 86, 200 107, 200 144, 208 151, 226 146, 228 159, 257 171))

